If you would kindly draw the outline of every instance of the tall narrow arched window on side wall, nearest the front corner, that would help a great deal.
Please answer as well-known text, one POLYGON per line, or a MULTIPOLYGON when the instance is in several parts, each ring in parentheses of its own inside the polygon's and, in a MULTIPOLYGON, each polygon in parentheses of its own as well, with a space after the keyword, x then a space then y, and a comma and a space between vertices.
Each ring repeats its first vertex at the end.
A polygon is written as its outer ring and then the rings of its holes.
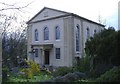
POLYGON ((76 51, 80 51, 80 27, 76 26, 76 51))

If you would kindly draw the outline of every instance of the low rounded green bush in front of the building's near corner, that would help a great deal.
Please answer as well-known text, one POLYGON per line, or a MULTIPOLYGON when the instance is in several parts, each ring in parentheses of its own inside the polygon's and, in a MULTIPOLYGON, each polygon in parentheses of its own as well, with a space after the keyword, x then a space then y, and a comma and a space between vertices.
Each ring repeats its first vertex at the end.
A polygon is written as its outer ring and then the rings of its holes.
POLYGON ((64 76, 65 74, 70 72, 73 72, 72 67, 59 67, 52 74, 54 77, 57 77, 57 76, 64 76))

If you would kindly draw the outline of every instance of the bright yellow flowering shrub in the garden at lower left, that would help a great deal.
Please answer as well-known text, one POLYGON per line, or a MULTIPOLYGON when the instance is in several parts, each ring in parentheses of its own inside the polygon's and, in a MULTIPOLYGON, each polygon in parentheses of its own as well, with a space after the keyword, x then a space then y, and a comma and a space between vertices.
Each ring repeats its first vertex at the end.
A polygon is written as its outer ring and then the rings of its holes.
POLYGON ((40 68, 37 63, 34 61, 27 61, 28 68, 23 68, 21 71, 25 73, 25 77, 33 78, 34 75, 38 75, 40 73, 40 68))

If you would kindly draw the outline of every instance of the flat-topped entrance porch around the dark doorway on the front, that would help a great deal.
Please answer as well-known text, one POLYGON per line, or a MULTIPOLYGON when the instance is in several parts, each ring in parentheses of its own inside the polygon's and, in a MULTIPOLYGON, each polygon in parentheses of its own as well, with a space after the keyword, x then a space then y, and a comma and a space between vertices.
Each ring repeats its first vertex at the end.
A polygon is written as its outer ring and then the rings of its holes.
POLYGON ((29 52, 30 60, 35 61, 42 66, 49 66, 50 65, 50 53, 53 49, 53 44, 40 44, 40 45, 31 45, 31 51, 29 52), (38 49, 36 52, 35 50, 38 49), (36 57, 38 53, 38 56, 36 57))

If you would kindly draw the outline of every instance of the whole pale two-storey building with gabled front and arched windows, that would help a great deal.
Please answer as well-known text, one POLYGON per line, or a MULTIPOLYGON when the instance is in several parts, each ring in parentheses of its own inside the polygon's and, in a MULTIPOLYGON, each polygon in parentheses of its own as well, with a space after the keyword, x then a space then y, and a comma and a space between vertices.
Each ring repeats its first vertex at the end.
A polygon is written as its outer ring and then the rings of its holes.
POLYGON ((85 56, 85 42, 104 25, 73 13, 44 7, 28 22, 27 57, 42 65, 73 66, 85 56))

